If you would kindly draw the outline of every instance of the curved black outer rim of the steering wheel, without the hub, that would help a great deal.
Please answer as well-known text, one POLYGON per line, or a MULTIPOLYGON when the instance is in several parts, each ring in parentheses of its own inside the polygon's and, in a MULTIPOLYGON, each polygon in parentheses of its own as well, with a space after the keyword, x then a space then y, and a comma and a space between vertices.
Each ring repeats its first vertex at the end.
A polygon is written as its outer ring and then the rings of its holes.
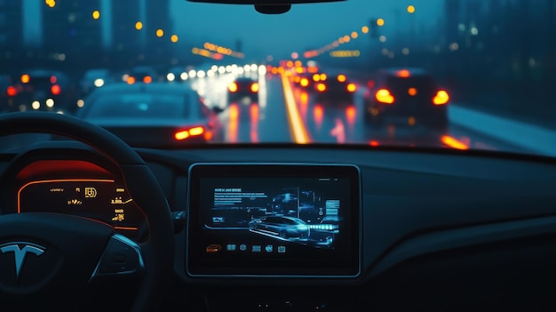
POLYGON ((174 244, 170 207, 147 164, 123 140, 81 119, 45 112, 0 115, 0 137, 26 132, 58 134, 81 141, 120 168, 126 188, 145 214, 149 228, 147 241, 141 243, 146 269, 132 310, 155 310, 171 277, 174 244))

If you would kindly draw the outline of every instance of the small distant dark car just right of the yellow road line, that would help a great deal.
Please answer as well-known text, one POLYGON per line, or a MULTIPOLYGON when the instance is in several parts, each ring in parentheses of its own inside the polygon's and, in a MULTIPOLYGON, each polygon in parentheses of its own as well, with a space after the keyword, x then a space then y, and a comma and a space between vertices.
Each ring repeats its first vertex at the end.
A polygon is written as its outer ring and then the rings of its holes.
POLYGON ((353 93, 357 85, 348 80, 344 74, 314 74, 314 94, 322 104, 353 104, 353 93))

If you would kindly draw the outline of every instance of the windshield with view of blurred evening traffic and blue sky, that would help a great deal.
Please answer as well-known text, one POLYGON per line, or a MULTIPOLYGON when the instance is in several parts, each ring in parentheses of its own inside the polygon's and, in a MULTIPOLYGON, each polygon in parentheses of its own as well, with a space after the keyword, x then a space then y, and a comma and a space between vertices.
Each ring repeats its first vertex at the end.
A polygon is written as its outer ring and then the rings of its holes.
MULTIPOLYGON (((553 0, 349 0, 277 15, 184 0, 0 8, 2 113, 109 116, 122 127, 138 116, 191 115, 203 144, 556 156, 553 0), (137 92, 148 84, 198 100, 137 92)), ((158 126, 180 129, 175 121, 158 126)), ((187 138, 176 143, 187 148, 187 138)))

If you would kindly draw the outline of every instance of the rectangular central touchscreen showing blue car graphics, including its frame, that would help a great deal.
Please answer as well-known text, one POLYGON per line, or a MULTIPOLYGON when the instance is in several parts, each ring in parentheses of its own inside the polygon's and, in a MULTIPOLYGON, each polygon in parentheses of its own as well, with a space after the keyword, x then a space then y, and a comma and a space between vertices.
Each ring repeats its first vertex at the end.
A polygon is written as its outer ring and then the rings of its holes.
POLYGON ((197 170, 203 174, 193 169, 189 194, 191 275, 358 273, 355 167, 210 165, 197 170))

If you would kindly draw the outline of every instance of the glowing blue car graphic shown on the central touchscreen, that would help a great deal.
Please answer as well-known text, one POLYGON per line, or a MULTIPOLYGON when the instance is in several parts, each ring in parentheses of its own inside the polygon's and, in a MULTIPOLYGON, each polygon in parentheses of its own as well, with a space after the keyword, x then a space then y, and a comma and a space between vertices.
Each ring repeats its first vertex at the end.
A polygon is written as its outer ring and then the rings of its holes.
POLYGON ((301 219, 286 216, 267 216, 249 222, 251 232, 283 240, 302 240, 310 235, 309 225, 301 219))

